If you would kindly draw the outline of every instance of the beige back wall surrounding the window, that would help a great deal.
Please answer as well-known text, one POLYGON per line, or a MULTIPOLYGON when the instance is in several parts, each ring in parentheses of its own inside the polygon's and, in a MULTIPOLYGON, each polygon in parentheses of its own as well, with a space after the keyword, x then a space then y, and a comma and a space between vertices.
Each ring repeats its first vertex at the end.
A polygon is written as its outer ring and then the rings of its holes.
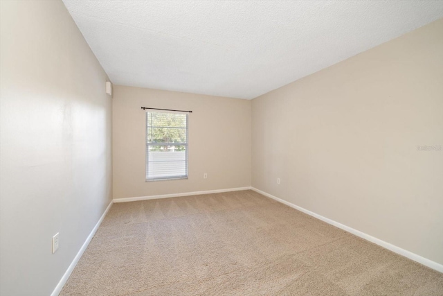
POLYGON ((114 198, 251 186, 251 101, 116 85, 112 107, 114 198), (192 110, 188 180, 145 182, 142 106, 192 110))

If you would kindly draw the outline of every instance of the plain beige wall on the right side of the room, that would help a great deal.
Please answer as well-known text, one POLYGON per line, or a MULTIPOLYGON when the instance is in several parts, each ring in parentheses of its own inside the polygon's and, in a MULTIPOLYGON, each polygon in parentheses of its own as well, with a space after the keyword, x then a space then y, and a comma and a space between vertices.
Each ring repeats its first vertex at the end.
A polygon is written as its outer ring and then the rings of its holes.
POLYGON ((443 20, 252 110, 255 188, 443 263, 443 20))

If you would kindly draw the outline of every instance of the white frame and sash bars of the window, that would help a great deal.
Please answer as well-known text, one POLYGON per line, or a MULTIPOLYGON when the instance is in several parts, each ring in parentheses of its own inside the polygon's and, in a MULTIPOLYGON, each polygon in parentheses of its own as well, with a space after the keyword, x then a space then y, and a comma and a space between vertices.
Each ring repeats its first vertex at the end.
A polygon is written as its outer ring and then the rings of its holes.
MULTIPOLYGON (((188 169, 188 165, 189 165, 189 158, 188 158, 188 148, 189 148, 189 114, 184 114, 186 115, 186 143, 160 143, 162 146, 185 146, 185 175, 180 175, 180 176, 166 176, 166 177, 151 177, 148 178, 148 172, 149 172, 149 146, 159 146, 159 143, 149 143, 148 141, 148 114, 149 113, 166 113, 166 114, 176 114, 176 113, 183 113, 183 112, 163 112, 163 111, 150 111, 150 110, 146 110, 146 114, 145 114, 145 150, 146 150, 146 155, 145 155, 145 182, 157 182, 157 181, 168 181, 168 180, 187 180, 188 176, 189 176, 189 169, 188 169), (168 145, 169 144, 169 145, 168 145)), ((166 127, 165 128, 170 128, 170 127, 166 127)), ((172 127, 173 128, 173 127, 172 127)))

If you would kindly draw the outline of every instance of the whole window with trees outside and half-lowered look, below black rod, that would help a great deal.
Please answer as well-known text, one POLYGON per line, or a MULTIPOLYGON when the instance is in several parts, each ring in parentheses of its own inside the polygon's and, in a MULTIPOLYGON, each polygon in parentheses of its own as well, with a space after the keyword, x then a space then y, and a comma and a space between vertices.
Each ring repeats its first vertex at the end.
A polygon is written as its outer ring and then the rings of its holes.
POLYGON ((146 112, 146 181, 188 178, 188 114, 146 112))

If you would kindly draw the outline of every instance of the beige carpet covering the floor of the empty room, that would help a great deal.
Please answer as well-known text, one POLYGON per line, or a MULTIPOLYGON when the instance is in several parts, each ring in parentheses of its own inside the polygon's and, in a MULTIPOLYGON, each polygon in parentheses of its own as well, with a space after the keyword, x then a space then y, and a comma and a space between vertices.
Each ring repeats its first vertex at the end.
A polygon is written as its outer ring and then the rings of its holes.
POLYGON ((114 204, 61 295, 443 295, 443 274, 236 191, 114 204))

